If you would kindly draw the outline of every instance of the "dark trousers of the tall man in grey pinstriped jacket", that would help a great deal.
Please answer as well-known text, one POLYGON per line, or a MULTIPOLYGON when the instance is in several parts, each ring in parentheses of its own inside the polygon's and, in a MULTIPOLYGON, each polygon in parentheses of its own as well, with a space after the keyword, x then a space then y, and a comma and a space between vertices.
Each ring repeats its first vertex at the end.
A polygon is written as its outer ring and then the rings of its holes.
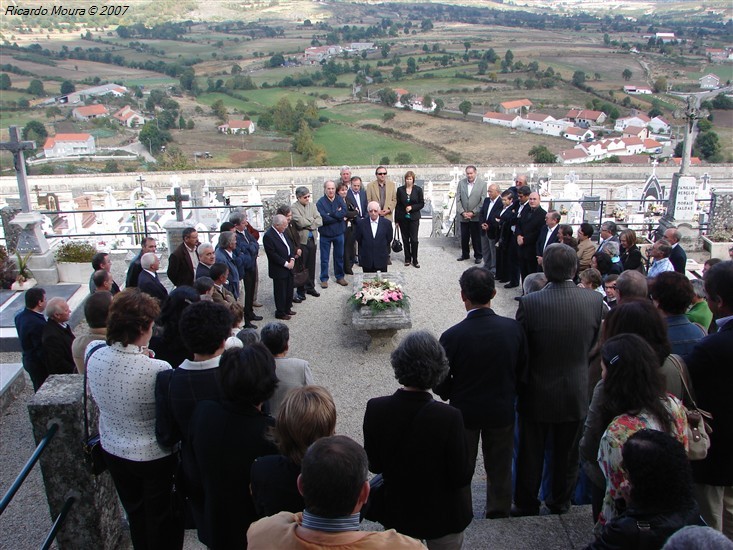
POLYGON ((545 504, 553 512, 567 511, 578 479, 578 444, 583 421, 536 422, 519 415, 519 453, 514 502, 527 512, 539 510, 545 445, 552 437, 552 490, 545 504))

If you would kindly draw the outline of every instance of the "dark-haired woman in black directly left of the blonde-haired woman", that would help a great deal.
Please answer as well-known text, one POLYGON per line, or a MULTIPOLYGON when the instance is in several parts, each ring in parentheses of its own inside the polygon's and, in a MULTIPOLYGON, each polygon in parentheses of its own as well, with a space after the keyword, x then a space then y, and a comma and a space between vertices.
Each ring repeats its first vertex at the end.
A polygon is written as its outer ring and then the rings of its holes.
POLYGON ((257 519, 249 492, 258 457, 277 454, 268 437, 274 425, 262 404, 275 392, 275 359, 262 344, 225 351, 219 361, 222 401, 196 406, 184 450, 199 540, 212 549, 246 548, 257 519))

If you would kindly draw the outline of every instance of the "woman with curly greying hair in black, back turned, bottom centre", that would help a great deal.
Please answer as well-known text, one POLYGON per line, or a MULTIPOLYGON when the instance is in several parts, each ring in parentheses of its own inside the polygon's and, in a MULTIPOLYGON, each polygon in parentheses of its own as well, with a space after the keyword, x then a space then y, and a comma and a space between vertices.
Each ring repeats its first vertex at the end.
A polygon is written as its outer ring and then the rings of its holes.
POLYGON ((418 331, 391 361, 402 388, 370 399, 364 414, 369 469, 384 478, 379 521, 425 539, 428 548, 461 548, 473 517, 463 417, 428 391, 448 374, 445 351, 429 332, 418 331))

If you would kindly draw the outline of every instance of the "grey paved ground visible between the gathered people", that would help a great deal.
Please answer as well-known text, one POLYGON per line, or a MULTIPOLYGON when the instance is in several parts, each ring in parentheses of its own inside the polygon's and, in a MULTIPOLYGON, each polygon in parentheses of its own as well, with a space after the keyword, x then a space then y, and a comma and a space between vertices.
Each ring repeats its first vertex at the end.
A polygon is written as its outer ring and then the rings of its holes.
MULTIPOLYGON (((423 223, 421 233, 429 231, 423 223)), ((406 274, 406 291, 411 300, 413 329, 425 329, 439 336, 465 315, 460 301, 458 278, 473 265, 457 262, 459 255, 453 239, 428 239, 421 235, 421 269, 403 267, 402 254, 393 254, 391 271, 406 274)), ((120 262, 121 263, 121 262, 120 262)), ((272 286, 267 278, 267 264, 260 256, 259 301, 264 307, 258 313, 265 317, 257 324, 274 321, 272 286)), ((115 265, 115 278, 124 281, 125 266, 115 265)), ((350 277, 347 277, 350 279, 350 277)), ((320 289, 319 289, 320 290, 320 289)), ((387 395, 398 388, 389 364, 389 353, 366 350, 368 337, 352 329, 346 300, 350 287, 340 287, 331 279, 320 298, 308 297, 295 304, 298 314, 288 322, 291 328, 290 349, 293 357, 310 361, 317 383, 334 396, 338 410, 337 433, 362 441, 362 419, 366 402, 371 397, 387 395)), ((517 289, 499 288, 493 307, 497 313, 513 317, 517 289)), ((80 331, 82 328, 78 328, 80 331)), ((405 331, 398 334, 404 335, 405 331)), ((19 354, 0 353, 2 362, 18 362, 19 354)), ((0 418, 0 492, 4 492, 22 464, 33 451, 33 440, 25 408, 31 397, 30 384, 19 399, 0 418)), ((430 480, 426 480, 429 483, 430 480)), ((484 513, 480 495, 483 488, 483 467, 477 466, 474 477, 474 512, 484 513)), ((31 473, 26 485, 3 514, 0 522, 0 548, 38 548, 50 528, 40 474, 31 473)), ((586 507, 574 509, 565 516, 478 520, 469 528, 466 548, 580 548, 591 538, 590 512, 586 507)), ((195 535, 187 537, 187 548, 201 548, 195 535)))

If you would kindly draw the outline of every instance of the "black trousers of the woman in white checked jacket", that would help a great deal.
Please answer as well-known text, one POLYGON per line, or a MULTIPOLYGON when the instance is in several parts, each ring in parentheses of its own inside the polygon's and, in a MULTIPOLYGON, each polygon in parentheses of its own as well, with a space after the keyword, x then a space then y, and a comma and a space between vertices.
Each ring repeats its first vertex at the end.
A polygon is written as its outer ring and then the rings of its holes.
POLYGON ((171 506, 176 456, 135 462, 105 451, 104 458, 127 512, 135 550, 182 548, 183 525, 171 506))

